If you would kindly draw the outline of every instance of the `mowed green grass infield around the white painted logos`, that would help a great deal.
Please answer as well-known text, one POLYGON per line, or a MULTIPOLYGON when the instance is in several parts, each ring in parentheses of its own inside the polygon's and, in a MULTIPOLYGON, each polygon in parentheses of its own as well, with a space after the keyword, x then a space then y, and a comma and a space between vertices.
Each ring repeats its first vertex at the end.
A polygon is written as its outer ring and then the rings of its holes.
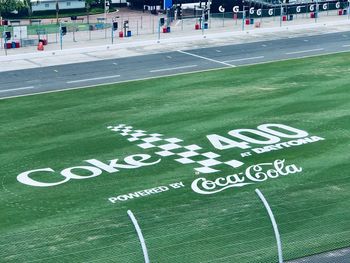
MULTIPOLYGON (((273 229, 256 188, 275 214, 285 259, 350 246, 349 59, 344 53, 1 100, 0 261, 142 262, 130 209, 151 262, 277 262, 273 229), (220 150, 206 137, 217 134, 243 143, 228 132, 271 123, 324 140, 242 157, 267 144, 247 143, 251 148, 241 149, 228 141, 220 150), (198 163, 161 157, 159 148, 140 148, 140 141, 107 128, 118 124, 179 138, 182 146, 199 145, 201 153, 244 164, 199 173, 198 163), (101 173, 91 178, 86 178, 91 172, 75 169, 71 175, 80 179, 68 176, 66 182, 60 174, 70 167, 92 167, 85 160, 125 164, 124 158, 135 154, 151 156, 144 163, 160 161, 113 173, 95 168, 101 173), (270 164, 282 159, 302 171, 265 178, 270 164), (191 188, 198 178, 214 181, 264 163, 256 181, 238 175, 251 184, 205 195, 191 188), (28 178, 61 184, 38 187, 17 180, 23 172, 43 168, 52 170, 28 178), (184 187, 169 186, 177 182, 184 187), (169 190, 109 201, 159 186, 169 190)), ((267 140, 243 133, 250 140, 267 140)), ((280 138, 280 143, 291 140, 280 138)))

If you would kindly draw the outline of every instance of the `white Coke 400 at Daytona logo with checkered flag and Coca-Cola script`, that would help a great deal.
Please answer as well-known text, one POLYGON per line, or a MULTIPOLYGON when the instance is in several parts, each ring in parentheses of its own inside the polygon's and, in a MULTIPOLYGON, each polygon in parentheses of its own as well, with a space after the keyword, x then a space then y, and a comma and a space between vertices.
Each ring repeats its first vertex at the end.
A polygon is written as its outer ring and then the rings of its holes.
MULTIPOLYGON (((158 164, 163 158, 172 158, 181 165, 194 167, 196 175, 213 174, 230 168, 232 171, 244 166, 243 158, 254 154, 264 154, 285 148, 296 147, 304 144, 324 140, 318 136, 310 136, 308 132, 293 128, 284 124, 262 124, 256 129, 234 129, 227 135, 210 134, 208 141, 216 151, 197 145, 188 144, 184 140, 175 137, 165 137, 159 133, 148 133, 144 130, 134 129, 132 126, 119 124, 109 126, 113 132, 119 133, 130 143, 135 143, 144 150, 152 150, 154 155, 134 154, 127 156, 123 161, 113 159, 100 161, 89 159, 87 164, 65 168, 56 171, 50 167, 39 168, 23 172, 17 176, 17 180, 25 185, 35 187, 52 187, 67 183, 71 180, 85 180, 104 174, 114 174, 122 169, 137 169, 144 166, 158 164), (239 149, 240 158, 226 159, 221 151, 239 149), (88 174, 88 175, 87 175, 88 174), (41 181, 43 176, 58 178, 55 182, 41 181)), ((227 188, 240 187, 255 182, 262 182, 268 178, 277 178, 293 173, 301 172, 301 167, 295 164, 286 164, 285 160, 275 160, 269 163, 261 163, 246 168, 245 172, 234 173, 226 177, 218 177, 214 181, 204 177, 196 179, 192 183, 192 189, 200 194, 220 192, 227 188), (265 172, 263 170, 266 170, 265 172), (253 172, 256 173, 253 173, 253 172)))

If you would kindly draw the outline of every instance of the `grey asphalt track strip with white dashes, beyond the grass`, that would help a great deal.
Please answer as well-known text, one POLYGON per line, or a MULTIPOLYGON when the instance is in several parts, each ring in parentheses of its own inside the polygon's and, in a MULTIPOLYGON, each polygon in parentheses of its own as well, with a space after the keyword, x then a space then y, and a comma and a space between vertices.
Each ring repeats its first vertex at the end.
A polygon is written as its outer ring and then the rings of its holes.
POLYGON ((0 98, 345 51, 350 32, 9 71, 0 98))

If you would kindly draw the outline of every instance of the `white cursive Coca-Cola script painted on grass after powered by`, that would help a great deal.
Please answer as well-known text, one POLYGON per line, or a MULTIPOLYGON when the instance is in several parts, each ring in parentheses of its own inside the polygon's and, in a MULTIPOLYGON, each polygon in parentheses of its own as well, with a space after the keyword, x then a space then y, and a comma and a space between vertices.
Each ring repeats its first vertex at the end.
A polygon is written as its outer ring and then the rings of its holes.
POLYGON ((207 180, 204 177, 192 182, 192 190, 198 194, 215 194, 228 188, 242 187, 256 182, 263 182, 280 176, 300 173, 303 169, 295 164, 285 164, 285 160, 275 160, 273 163, 260 163, 249 166, 245 172, 207 180))

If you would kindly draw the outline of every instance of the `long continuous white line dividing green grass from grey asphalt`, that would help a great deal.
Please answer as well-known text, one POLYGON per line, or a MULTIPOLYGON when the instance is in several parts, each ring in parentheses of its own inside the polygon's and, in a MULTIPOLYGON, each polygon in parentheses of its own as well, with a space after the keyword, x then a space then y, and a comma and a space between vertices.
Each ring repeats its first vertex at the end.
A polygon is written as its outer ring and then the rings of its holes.
MULTIPOLYGON (((248 66, 253 66, 253 65, 261 65, 261 64, 268 64, 268 63, 288 61, 288 60, 297 60, 297 59, 303 59, 303 58, 313 58, 313 57, 318 57, 318 56, 327 56, 327 55, 342 54, 342 53, 349 53, 349 50, 328 52, 328 53, 315 54, 315 55, 306 55, 306 56, 301 56, 301 57, 297 57, 297 58, 283 58, 283 59, 262 61, 262 62, 256 62, 256 63, 251 63, 251 64, 239 65, 238 67, 248 67, 248 66)), ((35 93, 30 93, 30 94, 2 97, 2 98, 0 98, 0 100, 15 99, 15 98, 35 96, 35 95, 41 95, 41 94, 49 94, 49 93, 57 93, 57 92, 63 92, 63 91, 87 89, 87 88, 94 88, 94 87, 107 86, 107 85, 120 84, 120 83, 128 83, 128 82, 136 82, 136 81, 149 80, 149 79, 174 77, 174 76, 188 75, 188 74, 194 74, 194 73, 203 73, 203 72, 210 72, 210 71, 221 70, 221 69, 227 69, 227 67, 195 70, 195 71, 189 71, 189 72, 168 74, 168 75, 163 75, 163 76, 153 76, 153 77, 129 79, 129 80, 123 80, 123 81, 114 81, 114 82, 101 83, 101 84, 95 84, 95 85, 87 85, 87 86, 82 86, 82 87, 72 87, 72 88, 64 88, 64 89, 57 89, 57 90, 41 91, 41 92, 35 92, 35 93)))

